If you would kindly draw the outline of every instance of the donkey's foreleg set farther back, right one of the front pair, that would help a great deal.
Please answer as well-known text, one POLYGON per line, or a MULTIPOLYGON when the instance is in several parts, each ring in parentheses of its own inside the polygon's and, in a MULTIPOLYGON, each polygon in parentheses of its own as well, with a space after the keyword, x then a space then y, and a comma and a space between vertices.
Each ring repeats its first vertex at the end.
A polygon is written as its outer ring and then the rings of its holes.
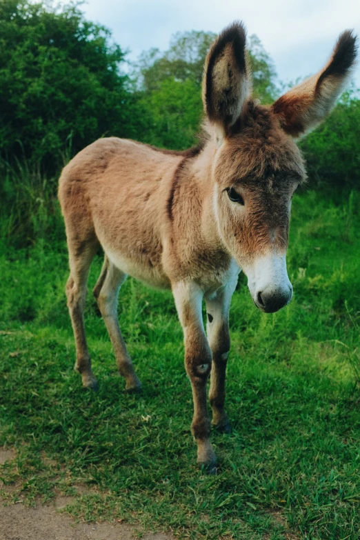
POLYGON ((212 350, 209 400, 212 424, 220 431, 230 433, 231 427, 225 412, 226 365, 230 350, 229 309, 236 282, 221 288, 216 295, 206 298, 208 341, 212 350))

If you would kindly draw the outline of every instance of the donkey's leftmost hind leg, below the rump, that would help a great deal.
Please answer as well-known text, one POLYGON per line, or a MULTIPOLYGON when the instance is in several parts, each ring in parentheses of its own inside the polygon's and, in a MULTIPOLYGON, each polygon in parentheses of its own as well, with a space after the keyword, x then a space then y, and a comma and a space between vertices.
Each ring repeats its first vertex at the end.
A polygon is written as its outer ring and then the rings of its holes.
POLYGON ((70 276, 66 283, 66 296, 68 297, 68 308, 74 330, 75 345, 77 349, 77 359, 75 370, 81 374, 83 386, 97 390, 97 379, 91 370, 90 354, 86 343, 85 326, 83 321, 83 310, 86 300, 86 283, 90 264, 97 250, 97 241, 84 243, 68 243, 70 276))

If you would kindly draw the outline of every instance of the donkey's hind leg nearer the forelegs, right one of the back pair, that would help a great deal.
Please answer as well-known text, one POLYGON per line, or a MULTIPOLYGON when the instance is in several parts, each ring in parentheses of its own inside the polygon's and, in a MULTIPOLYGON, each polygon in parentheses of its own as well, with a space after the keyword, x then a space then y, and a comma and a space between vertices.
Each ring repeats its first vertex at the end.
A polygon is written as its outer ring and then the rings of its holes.
POLYGON ((97 299, 99 310, 109 332, 117 367, 126 380, 126 390, 137 392, 141 389, 141 383, 134 372, 134 366, 117 320, 117 297, 125 280, 126 274, 114 266, 105 255, 101 274, 94 287, 94 297, 97 299))

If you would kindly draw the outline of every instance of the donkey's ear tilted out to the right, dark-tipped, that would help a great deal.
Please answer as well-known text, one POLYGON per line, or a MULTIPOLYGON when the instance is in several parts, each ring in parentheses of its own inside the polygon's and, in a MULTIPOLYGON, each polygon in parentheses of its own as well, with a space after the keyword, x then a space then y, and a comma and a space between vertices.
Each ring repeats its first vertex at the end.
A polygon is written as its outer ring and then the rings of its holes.
POLYGON ((326 117, 343 91, 357 57, 357 37, 351 30, 340 34, 328 64, 272 105, 283 130, 300 137, 326 117))

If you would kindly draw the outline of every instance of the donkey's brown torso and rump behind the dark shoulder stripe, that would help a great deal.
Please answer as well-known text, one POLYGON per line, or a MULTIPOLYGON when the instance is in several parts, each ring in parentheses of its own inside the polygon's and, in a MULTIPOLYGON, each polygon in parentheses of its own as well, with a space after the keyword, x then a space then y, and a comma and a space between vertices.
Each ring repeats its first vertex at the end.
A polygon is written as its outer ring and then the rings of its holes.
POLYGON ((79 152, 59 181, 70 258, 90 258, 100 244, 124 273, 168 287, 161 261, 166 201, 181 159, 116 137, 79 152))

